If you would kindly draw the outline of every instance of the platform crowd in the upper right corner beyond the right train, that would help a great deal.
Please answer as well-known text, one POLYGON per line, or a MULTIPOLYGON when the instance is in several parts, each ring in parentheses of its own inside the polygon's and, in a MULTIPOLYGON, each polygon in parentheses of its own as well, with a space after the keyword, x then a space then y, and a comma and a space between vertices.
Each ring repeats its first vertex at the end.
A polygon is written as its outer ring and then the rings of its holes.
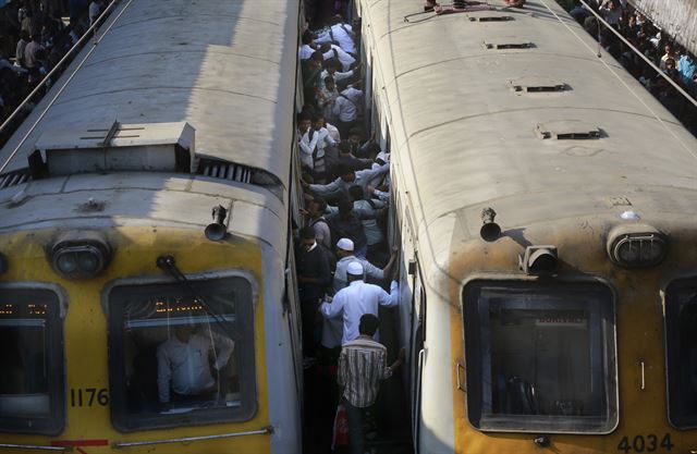
MULTIPOLYGON (((697 108, 681 95, 648 63, 597 21, 588 8, 578 0, 559 0, 584 28, 596 37, 602 48, 612 54, 690 132, 697 135, 697 108), (600 26, 599 26, 600 25, 600 26)), ((640 11, 626 0, 587 1, 606 22, 614 27, 663 74, 697 98, 697 59, 673 38, 655 26, 640 11)))

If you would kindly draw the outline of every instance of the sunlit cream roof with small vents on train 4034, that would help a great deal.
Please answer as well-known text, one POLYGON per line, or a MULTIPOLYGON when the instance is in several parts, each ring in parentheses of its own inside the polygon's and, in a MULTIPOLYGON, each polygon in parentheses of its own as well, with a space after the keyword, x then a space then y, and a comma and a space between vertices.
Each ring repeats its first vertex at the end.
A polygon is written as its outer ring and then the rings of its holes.
POLYGON ((696 214, 697 139, 554 1, 490 3, 409 22, 416 1, 360 3, 417 224, 450 238, 457 222, 468 240, 487 206, 504 228, 632 208, 696 214))

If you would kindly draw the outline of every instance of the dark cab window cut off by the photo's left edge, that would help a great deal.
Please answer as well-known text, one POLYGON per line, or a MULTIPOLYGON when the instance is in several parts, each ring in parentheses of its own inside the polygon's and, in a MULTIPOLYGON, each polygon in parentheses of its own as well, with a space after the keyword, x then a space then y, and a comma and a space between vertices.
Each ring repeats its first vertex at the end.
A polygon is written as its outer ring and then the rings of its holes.
POLYGON ((0 289, 0 431, 58 434, 64 424, 58 297, 0 289))

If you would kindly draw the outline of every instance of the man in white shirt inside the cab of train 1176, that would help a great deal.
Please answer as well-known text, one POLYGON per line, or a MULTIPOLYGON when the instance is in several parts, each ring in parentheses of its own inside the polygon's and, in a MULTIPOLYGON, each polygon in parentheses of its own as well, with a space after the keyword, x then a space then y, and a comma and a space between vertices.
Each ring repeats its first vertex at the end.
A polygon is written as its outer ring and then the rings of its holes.
POLYGON ((196 403, 215 401, 221 383, 221 370, 230 361, 234 341, 210 330, 211 335, 199 334, 194 324, 179 324, 174 335, 157 348, 158 394, 162 410, 172 403, 196 403))

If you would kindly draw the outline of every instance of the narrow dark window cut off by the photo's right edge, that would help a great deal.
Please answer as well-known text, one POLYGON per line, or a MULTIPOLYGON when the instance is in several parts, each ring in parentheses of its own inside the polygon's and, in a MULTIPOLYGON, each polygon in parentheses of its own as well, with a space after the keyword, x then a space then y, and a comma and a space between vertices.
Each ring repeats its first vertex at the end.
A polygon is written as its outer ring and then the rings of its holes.
POLYGON ((697 280, 669 285, 665 340, 670 421, 681 429, 697 428, 697 280))

